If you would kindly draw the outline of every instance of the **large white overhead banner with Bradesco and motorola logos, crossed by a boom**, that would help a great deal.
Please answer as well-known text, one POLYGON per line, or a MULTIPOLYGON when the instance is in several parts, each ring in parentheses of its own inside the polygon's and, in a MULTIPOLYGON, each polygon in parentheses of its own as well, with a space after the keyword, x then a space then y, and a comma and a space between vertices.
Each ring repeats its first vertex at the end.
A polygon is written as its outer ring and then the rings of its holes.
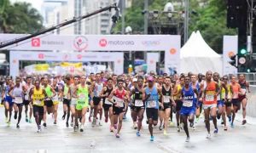
MULTIPOLYGON (((0 42, 6 42, 20 34, 0 34, 0 42)), ((43 35, 32 37, 11 47, 10 50, 77 50, 77 51, 140 51, 165 50, 177 42, 171 35, 43 35), (174 40, 172 42, 171 40, 174 40)))

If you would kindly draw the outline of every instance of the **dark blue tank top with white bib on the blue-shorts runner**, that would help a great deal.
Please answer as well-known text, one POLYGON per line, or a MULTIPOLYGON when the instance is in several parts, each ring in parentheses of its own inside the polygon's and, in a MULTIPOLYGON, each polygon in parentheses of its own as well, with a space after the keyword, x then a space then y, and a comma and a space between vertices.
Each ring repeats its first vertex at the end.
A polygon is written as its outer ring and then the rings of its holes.
POLYGON ((183 93, 183 107, 185 108, 193 108, 195 107, 195 92, 191 85, 189 85, 189 89, 187 90, 185 87, 182 89, 183 93))

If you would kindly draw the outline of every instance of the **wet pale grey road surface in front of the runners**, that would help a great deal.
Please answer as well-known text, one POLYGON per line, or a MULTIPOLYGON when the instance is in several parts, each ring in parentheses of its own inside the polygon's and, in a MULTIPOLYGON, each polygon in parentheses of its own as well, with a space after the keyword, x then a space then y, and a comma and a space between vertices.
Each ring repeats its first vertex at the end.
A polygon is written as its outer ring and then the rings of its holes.
POLYGON ((128 119, 123 123, 121 138, 116 139, 114 134, 109 132, 108 123, 103 122, 103 126, 91 127, 88 117, 86 117, 84 133, 73 132, 73 128, 67 128, 65 122, 61 120, 61 108, 59 110, 57 125, 54 125, 52 117, 48 116, 48 127, 43 127, 41 133, 36 133, 37 127, 34 120, 32 123, 25 122, 24 114, 22 114, 20 129, 16 129, 16 121, 13 118, 11 126, 8 127, 4 122, 3 107, 0 107, 0 153, 256 152, 256 126, 250 122, 246 126, 241 126, 241 122, 236 121, 235 128, 229 128, 224 132, 224 127, 218 121, 218 134, 212 133, 212 138, 206 139, 207 130, 201 118, 200 122, 195 124, 195 131, 189 129, 189 143, 185 142, 185 133, 183 131, 177 133, 176 127, 169 127, 167 136, 163 135, 163 131, 158 127, 154 127, 154 142, 150 142, 145 119, 142 136, 137 137, 136 130, 131 127, 129 112, 128 119))

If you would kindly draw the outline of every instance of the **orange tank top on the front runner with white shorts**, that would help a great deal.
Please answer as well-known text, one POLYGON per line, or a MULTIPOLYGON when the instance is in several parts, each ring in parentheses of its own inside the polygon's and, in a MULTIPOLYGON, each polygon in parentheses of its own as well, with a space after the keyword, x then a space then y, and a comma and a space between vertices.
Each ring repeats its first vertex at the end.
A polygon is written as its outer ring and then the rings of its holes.
POLYGON ((216 94, 216 82, 207 83, 207 87, 205 88, 205 96, 204 96, 204 105, 212 105, 217 104, 217 97, 214 96, 216 94))

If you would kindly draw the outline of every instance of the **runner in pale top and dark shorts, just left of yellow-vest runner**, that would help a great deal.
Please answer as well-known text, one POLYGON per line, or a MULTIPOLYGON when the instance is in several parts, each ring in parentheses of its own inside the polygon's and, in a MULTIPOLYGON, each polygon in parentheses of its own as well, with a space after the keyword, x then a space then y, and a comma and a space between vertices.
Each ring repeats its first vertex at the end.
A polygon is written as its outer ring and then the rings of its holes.
POLYGON ((25 94, 23 104, 25 105, 26 122, 32 123, 32 102, 29 99, 29 92, 34 86, 32 85, 32 77, 26 77, 25 94), (27 116, 29 105, 29 117, 27 116))

